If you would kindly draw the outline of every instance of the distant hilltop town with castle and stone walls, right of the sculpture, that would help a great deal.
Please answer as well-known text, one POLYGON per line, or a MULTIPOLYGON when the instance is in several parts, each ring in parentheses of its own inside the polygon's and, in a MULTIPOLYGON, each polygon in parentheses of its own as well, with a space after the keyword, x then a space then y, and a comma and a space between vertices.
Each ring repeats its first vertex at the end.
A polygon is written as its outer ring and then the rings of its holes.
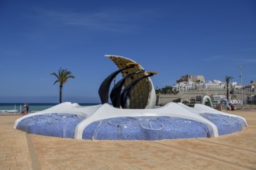
MULTIPOLYGON (((254 84, 242 86, 237 82, 230 82, 230 103, 239 104, 242 103, 242 100, 244 100, 244 103, 255 103, 255 87, 254 84)), ((185 75, 176 81, 172 91, 174 93, 158 94, 157 104, 164 105, 177 99, 197 103, 199 97, 205 95, 212 97, 212 100, 217 104, 220 103, 220 100, 227 98, 227 82, 205 80, 204 76, 185 75)))

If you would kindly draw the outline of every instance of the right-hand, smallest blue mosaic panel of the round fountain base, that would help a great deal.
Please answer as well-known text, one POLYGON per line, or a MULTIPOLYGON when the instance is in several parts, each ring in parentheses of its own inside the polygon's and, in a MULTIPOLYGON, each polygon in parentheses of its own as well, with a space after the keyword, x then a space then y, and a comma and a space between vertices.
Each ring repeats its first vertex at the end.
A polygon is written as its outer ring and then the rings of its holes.
POLYGON ((240 119, 239 117, 229 117, 223 114, 209 113, 204 113, 200 115, 216 125, 220 136, 224 134, 232 134, 237 131, 242 131, 244 127, 246 127, 244 120, 240 119))

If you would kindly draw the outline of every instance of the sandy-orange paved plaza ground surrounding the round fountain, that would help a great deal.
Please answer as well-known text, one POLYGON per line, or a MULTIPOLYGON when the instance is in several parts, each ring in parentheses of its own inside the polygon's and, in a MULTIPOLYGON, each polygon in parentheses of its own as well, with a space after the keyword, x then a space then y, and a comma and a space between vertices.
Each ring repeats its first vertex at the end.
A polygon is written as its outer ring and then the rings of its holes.
POLYGON ((0 116, 0 169, 256 169, 256 110, 244 131, 217 138, 87 141, 26 134, 0 116))

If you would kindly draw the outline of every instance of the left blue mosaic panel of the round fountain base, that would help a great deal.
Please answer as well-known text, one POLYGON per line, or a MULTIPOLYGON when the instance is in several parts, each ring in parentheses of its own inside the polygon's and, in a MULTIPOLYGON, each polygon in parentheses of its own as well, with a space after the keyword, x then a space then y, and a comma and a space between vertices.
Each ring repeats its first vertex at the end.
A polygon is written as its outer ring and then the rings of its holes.
POLYGON ((61 138, 74 138, 74 130, 85 117, 76 114, 41 114, 26 117, 17 129, 29 134, 41 134, 61 138))

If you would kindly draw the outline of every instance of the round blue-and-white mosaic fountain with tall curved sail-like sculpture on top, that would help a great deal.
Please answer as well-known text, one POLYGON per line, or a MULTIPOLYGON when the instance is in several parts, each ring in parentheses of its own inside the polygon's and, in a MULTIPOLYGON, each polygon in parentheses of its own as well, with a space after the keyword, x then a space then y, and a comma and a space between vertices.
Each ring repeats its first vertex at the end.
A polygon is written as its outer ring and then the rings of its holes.
MULTIPOLYGON (((102 104, 90 107, 70 102, 57 104, 47 110, 20 117, 13 128, 29 134, 61 138, 151 141, 213 138, 242 131, 247 126, 244 117, 226 114, 203 104, 188 107, 185 104, 168 103, 164 107, 154 108, 156 97, 150 80, 151 73, 137 64, 129 66, 127 63, 136 63, 131 59, 107 57, 116 63, 119 70, 123 69, 119 71, 123 79, 110 93, 112 102, 116 102, 115 106, 108 104, 106 99, 106 96, 109 97, 108 87, 107 93, 102 94, 102 104), (124 69, 127 66, 129 68, 124 69), (122 88, 129 89, 123 97, 122 88), (122 107, 121 100, 125 97, 130 99, 130 108, 122 107)), ((112 76, 106 80, 106 84, 111 83, 111 79, 112 76)), ((127 104, 127 100, 124 103, 127 104)))

